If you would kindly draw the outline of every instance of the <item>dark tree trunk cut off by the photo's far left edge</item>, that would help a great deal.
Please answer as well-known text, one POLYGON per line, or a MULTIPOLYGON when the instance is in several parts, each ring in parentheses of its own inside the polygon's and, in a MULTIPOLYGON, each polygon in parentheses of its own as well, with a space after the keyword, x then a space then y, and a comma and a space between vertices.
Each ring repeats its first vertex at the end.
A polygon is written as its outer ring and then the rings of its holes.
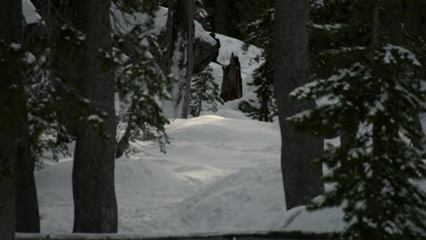
MULTIPOLYGON (((25 131, 27 111, 22 81, 23 42, 22 2, 0 1, 0 56, 6 61, 0 65, 0 236, 2 240, 15 239, 16 182, 15 163, 20 133, 25 131), (11 49, 14 44, 16 51, 11 49)), ((28 131, 28 129, 27 129, 28 131)))

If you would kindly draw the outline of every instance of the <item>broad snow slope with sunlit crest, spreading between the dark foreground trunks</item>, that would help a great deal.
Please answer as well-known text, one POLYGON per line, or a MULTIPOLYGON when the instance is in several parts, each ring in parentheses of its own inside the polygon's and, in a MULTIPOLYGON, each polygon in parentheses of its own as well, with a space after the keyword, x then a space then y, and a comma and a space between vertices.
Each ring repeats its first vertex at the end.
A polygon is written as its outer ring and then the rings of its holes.
MULTIPOLYGON (((284 214, 277 124, 201 116, 167 132, 166 155, 116 162, 119 232, 264 230, 284 214)), ((71 168, 68 160, 36 173, 42 232, 71 232, 71 168)))

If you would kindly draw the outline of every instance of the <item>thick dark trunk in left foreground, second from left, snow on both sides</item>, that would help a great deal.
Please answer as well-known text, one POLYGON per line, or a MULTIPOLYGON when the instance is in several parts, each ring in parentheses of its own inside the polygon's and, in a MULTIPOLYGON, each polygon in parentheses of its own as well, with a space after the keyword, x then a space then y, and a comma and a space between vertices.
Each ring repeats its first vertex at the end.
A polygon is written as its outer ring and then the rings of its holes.
MULTIPOLYGON (((107 115, 103 129, 107 137, 99 135, 87 121, 77 128, 76 149, 72 171, 74 194, 73 232, 117 232, 118 216, 114 188, 116 116, 114 110, 115 81, 112 67, 102 60, 111 55, 111 1, 72 1, 73 23, 86 34, 86 51, 81 53, 76 83, 90 108, 107 115)), ((95 112, 93 112, 95 114, 95 112)))

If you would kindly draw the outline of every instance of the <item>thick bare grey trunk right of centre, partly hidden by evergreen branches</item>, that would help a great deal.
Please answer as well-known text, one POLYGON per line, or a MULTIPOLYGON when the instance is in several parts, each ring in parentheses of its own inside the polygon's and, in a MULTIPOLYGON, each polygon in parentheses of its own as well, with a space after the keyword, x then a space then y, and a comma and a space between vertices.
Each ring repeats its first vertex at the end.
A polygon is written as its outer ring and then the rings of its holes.
POLYGON ((309 81, 308 0, 275 2, 275 95, 282 135, 282 177, 287 209, 308 204, 324 193, 322 166, 314 164, 323 141, 293 133, 286 118, 315 104, 290 102, 288 95, 309 81))

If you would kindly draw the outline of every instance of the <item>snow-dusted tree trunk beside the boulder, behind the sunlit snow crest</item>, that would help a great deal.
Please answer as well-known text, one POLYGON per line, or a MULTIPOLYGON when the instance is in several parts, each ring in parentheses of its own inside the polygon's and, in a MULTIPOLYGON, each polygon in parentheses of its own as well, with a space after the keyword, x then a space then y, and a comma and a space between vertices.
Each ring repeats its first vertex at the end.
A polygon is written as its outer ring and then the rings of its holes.
POLYGON ((167 18, 167 53, 163 56, 165 72, 172 74, 177 82, 172 89, 172 99, 163 102, 165 116, 186 119, 191 98, 193 74, 194 0, 169 2, 167 18))

